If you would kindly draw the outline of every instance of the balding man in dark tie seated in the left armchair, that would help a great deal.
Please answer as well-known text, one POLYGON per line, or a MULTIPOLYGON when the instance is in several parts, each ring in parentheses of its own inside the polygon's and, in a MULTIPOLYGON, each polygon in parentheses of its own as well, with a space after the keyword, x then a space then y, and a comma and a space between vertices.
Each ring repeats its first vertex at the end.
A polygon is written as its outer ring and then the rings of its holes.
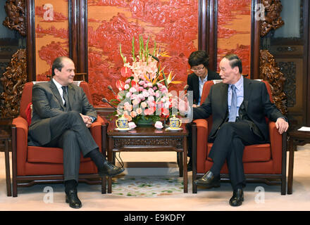
POLYGON ((77 197, 80 152, 94 161, 101 176, 116 176, 124 169, 107 162, 99 152, 88 129, 97 119, 97 113, 82 88, 73 84, 74 70, 70 58, 58 57, 52 65, 51 81, 33 86, 28 143, 63 148, 66 203, 80 208, 82 203, 77 197))

